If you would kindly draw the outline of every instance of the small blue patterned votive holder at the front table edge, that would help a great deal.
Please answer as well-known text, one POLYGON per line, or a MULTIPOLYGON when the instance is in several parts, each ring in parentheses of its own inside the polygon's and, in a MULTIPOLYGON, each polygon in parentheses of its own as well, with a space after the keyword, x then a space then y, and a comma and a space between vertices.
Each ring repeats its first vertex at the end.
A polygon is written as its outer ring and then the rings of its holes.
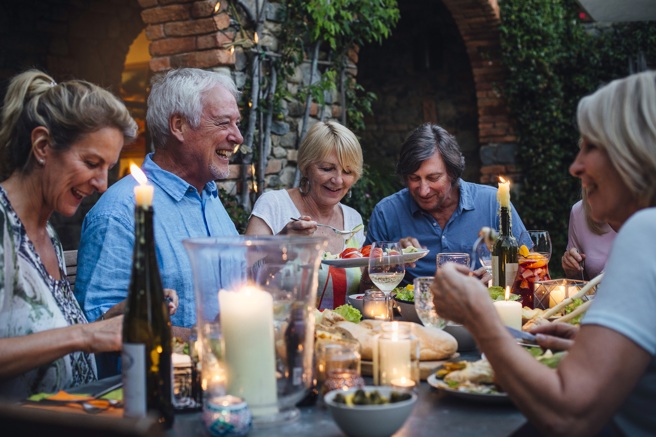
POLYGON ((253 427, 253 415, 237 396, 214 396, 203 404, 203 426, 214 437, 243 437, 253 427))

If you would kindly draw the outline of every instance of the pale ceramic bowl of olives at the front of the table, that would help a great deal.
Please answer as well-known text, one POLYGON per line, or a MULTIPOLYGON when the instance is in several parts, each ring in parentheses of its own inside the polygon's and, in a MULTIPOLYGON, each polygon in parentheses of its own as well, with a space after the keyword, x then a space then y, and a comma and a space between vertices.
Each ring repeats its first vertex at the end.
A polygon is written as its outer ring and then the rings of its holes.
MULTIPOLYGON (((374 385, 367 385, 362 389, 367 393, 378 390, 380 395, 386 398, 389 398, 393 391, 404 391, 374 385)), ((346 391, 337 389, 327 392, 323 396, 333 419, 348 437, 390 437, 403 426, 403 423, 412 412, 415 402, 417 402, 417 393, 413 391, 407 391, 412 395, 412 398, 394 404, 348 406, 333 401, 337 393, 346 396, 346 394, 357 390, 359 390, 358 387, 346 391)))

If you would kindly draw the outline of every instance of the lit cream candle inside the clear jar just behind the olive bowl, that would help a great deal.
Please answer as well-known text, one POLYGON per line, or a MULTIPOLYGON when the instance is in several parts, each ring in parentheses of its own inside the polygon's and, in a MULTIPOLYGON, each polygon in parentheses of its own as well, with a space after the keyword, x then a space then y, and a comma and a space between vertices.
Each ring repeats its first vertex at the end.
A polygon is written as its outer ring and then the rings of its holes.
MULTIPOLYGON (((381 335, 378 339, 377 351, 374 351, 377 354, 374 359, 379 358, 378 366, 376 366, 380 368, 378 385, 391 385, 393 379, 402 377, 411 378, 410 347, 409 335, 399 332, 399 322, 392 322, 391 335, 381 335)), ((374 375, 376 376, 376 373, 374 375)), ((376 385, 376 381, 374 385, 376 385)))

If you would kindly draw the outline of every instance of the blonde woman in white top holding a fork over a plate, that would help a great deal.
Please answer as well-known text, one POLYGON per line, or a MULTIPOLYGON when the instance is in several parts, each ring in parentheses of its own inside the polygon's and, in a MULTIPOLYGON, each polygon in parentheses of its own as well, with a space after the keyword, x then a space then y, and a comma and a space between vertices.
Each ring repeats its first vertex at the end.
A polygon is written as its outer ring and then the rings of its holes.
MULTIPOLYGON (((358 138, 335 121, 312 126, 298 148, 300 187, 264 193, 255 202, 246 235, 308 235, 328 240, 326 252, 340 254, 347 247, 360 248, 365 240, 358 231, 350 240, 327 227, 353 229, 362 224, 360 214, 342 205, 362 174, 362 150, 358 138), (291 218, 300 218, 293 221, 291 218)), ((317 307, 334 309, 346 297, 358 293, 361 270, 321 265, 317 307)))

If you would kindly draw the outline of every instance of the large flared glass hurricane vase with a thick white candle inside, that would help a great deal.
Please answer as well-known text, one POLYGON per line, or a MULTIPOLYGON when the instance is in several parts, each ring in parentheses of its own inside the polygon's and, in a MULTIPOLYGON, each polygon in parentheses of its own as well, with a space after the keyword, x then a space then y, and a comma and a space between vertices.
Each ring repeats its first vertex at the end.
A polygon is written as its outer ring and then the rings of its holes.
POLYGON ((314 382, 321 250, 308 237, 192 238, 205 398, 243 398, 255 427, 294 421, 314 382))

